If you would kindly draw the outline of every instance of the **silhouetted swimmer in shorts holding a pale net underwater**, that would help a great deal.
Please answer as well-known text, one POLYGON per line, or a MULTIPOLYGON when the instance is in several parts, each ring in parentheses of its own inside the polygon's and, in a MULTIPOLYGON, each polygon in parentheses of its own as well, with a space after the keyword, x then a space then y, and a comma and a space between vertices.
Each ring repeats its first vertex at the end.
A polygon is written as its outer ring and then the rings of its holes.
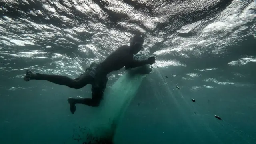
POLYGON ((154 64, 156 62, 155 57, 150 57, 147 60, 142 61, 134 60, 134 55, 143 49, 143 43, 144 38, 142 38, 142 36, 133 36, 130 39, 130 46, 120 46, 103 62, 99 64, 92 63, 83 74, 75 79, 61 75, 40 74, 32 72, 31 70, 27 70, 26 76, 24 76, 24 80, 47 80, 55 84, 65 85, 75 89, 80 89, 87 84, 91 84, 92 98, 68 98, 70 111, 72 114, 74 114, 76 111, 76 104, 85 104, 92 107, 98 107, 100 101, 103 98, 103 94, 108 81, 107 74, 116 70, 120 70, 123 67, 125 67, 127 70, 128 68, 135 68, 146 64, 154 64))

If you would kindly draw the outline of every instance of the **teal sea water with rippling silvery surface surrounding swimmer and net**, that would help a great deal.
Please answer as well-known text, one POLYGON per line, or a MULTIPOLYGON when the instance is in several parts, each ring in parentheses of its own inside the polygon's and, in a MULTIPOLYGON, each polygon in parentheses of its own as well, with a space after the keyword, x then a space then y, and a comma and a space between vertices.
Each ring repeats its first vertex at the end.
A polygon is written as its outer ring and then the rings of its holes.
POLYGON ((25 70, 75 78, 138 33, 157 60, 116 144, 256 143, 254 0, 0 0, 0 143, 64 144, 94 120, 66 101, 90 86, 24 82, 25 70))

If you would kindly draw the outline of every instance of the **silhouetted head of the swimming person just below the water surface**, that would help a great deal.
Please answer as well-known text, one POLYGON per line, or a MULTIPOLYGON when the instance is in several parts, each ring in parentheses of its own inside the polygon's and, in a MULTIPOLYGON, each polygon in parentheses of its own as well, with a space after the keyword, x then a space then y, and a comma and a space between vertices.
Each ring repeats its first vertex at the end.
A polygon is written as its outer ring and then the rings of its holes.
POLYGON ((132 54, 137 54, 143 49, 144 38, 140 35, 135 35, 130 39, 130 48, 132 54))

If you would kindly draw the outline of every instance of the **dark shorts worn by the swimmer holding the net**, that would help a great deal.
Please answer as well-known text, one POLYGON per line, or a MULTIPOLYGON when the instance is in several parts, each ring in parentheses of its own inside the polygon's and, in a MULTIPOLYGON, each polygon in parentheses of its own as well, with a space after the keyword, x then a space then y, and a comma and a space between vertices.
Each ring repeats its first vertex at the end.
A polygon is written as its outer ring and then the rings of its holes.
POLYGON ((108 77, 101 74, 100 64, 93 62, 89 68, 85 70, 84 74, 92 78, 89 83, 92 85, 92 98, 102 99, 108 77))

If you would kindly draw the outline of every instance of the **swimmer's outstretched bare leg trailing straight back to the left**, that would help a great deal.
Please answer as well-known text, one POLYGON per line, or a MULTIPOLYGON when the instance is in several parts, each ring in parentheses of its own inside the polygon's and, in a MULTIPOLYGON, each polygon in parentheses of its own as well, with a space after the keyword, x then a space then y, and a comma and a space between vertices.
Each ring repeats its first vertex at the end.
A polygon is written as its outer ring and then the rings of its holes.
POLYGON ((76 79, 72 79, 67 76, 34 73, 30 70, 27 70, 26 76, 24 76, 25 81, 47 80, 47 81, 55 83, 55 84, 65 85, 70 88, 76 88, 76 89, 84 87, 86 84, 88 84, 90 82, 91 79, 92 78, 86 73, 81 74, 76 79))

